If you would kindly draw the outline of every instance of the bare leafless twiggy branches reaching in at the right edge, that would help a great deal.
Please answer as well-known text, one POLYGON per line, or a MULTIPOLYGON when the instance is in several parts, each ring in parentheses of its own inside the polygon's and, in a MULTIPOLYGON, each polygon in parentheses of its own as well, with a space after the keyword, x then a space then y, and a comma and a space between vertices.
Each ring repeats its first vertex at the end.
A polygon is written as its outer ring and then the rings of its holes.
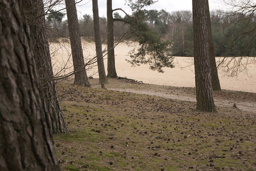
POLYGON ((232 58, 225 56, 218 67, 224 70, 226 76, 248 74, 247 66, 256 63, 256 5, 254 0, 224 0, 229 9, 224 13, 228 20, 230 35, 225 44, 228 51, 233 52, 232 58), (227 46, 227 45, 226 45, 227 46), (254 58, 250 58, 254 57, 254 58))

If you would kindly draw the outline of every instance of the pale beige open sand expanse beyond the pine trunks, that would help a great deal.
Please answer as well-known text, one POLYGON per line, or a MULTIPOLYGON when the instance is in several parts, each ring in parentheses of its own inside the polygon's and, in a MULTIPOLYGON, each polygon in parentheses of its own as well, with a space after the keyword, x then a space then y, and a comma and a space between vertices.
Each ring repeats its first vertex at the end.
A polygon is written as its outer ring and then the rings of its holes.
MULTIPOLYGON (((95 56, 94 43, 82 43, 84 48, 84 56, 86 61, 89 61, 95 56)), ((72 71, 72 60, 70 58, 70 48, 68 43, 62 44, 50 44, 51 51, 55 52, 55 56, 52 58, 53 68, 55 74, 68 74, 72 71), (63 68, 65 68, 63 70, 63 68)), ((103 45, 103 50, 106 45, 103 45)), ((152 71, 147 65, 140 65, 132 67, 125 59, 129 60, 128 52, 133 47, 129 47, 126 43, 120 43, 115 48, 116 54, 116 72, 120 77, 126 77, 138 81, 142 81, 147 84, 156 85, 172 85, 177 87, 194 87, 194 64, 193 58, 190 57, 175 57, 175 68, 164 68, 164 73, 158 73, 152 71)), ((217 63, 222 58, 216 58, 217 63)), ((222 89, 246 91, 256 93, 256 69, 255 61, 253 58, 249 58, 250 64, 246 66, 247 72, 241 72, 238 76, 228 77, 225 76, 223 68, 218 70, 220 85, 222 89)), ((104 56, 105 69, 107 70, 107 60, 104 56)), ((98 78, 96 64, 87 66, 88 76, 98 78)))

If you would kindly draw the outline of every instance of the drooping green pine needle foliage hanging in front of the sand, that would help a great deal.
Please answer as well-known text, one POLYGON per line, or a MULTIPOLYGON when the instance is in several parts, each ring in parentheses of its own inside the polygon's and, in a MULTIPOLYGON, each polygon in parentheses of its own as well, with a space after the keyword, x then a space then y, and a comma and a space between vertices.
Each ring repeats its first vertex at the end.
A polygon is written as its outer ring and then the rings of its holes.
POLYGON ((139 48, 130 51, 131 60, 127 60, 133 66, 140 64, 150 65, 150 69, 164 72, 163 68, 173 68, 173 57, 170 54, 170 41, 161 40, 156 32, 152 31, 144 22, 136 23, 132 26, 130 34, 139 48))

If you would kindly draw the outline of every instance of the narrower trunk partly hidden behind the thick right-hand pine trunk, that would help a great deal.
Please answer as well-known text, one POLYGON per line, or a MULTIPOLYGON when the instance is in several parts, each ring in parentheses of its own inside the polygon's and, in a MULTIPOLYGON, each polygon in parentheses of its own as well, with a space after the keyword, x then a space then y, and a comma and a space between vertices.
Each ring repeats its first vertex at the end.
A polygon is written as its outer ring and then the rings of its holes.
POLYGON ((218 70, 216 66, 216 60, 214 55, 214 43, 212 40, 212 27, 211 27, 211 18, 210 18, 210 9, 208 0, 206 2, 207 7, 207 28, 208 28, 208 43, 209 43, 209 60, 210 60, 210 69, 211 69, 211 81, 212 81, 212 90, 221 91, 220 80, 218 77, 218 70))

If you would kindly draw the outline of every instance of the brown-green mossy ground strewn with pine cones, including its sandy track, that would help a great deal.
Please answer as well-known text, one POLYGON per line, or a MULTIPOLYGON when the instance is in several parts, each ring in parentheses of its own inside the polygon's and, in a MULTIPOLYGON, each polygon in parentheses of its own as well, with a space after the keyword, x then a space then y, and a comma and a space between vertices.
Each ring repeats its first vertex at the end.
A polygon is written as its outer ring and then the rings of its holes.
POLYGON ((62 170, 256 170, 256 93, 216 91, 210 113, 191 87, 108 81, 57 84, 70 131, 53 135, 62 170))

